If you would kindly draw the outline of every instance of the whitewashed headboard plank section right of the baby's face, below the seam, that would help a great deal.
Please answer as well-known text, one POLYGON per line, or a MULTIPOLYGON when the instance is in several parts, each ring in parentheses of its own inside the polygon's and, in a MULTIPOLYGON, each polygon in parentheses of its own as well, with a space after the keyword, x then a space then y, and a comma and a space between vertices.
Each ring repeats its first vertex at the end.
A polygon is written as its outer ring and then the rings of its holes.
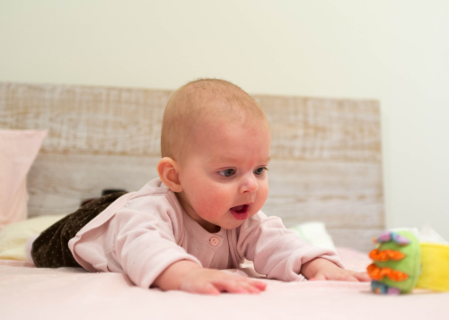
POLYGON ((379 166, 272 160, 269 167, 262 210, 282 217, 287 227, 319 220, 328 228, 383 228, 379 166))

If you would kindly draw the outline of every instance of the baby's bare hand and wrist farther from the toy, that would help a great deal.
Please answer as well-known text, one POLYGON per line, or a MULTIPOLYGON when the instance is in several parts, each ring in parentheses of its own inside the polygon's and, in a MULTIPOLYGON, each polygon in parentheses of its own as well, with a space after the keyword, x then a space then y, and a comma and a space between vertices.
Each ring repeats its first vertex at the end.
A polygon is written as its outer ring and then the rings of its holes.
POLYGON ((202 268, 199 264, 182 260, 170 265, 153 282, 162 290, 182 290, 192 293, 218 295, 220 292, 260 293, 267 284, 246 277, 202 268))

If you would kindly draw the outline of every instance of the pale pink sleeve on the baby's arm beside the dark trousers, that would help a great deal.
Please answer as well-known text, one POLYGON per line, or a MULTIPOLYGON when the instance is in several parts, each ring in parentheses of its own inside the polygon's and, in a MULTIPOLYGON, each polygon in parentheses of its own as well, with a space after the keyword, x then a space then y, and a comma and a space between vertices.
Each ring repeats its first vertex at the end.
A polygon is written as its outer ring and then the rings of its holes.
POLYGON ((171 202, 164 195, 130 199, 109 221, 77 235, 75 258, 90 271, 124 272, 145 289, 180 260, 201 265, 177 244, 182 217, 171 202))

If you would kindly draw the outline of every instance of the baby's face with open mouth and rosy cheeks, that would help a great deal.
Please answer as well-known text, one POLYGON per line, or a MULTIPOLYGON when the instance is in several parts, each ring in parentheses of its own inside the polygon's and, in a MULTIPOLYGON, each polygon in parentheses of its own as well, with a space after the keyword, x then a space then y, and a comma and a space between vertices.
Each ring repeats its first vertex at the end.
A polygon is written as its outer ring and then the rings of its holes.
POLYGON ((246 118, 251 120, 197 124, 180 163, 180 203, 209 232, 239 227, 269 195, 269 127, 246 118))

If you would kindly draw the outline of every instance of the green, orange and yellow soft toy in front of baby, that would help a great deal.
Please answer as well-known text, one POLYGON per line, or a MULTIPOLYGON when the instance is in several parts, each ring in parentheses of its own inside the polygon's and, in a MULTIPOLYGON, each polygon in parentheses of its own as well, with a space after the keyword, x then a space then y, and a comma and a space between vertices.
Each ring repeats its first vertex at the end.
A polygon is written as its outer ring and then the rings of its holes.
POLYGON ((415 288, 449 290, 449 246, 419 243, 408 230, 384 232, 374 240, 367 267, 375 293, 398 295, 415 288))

